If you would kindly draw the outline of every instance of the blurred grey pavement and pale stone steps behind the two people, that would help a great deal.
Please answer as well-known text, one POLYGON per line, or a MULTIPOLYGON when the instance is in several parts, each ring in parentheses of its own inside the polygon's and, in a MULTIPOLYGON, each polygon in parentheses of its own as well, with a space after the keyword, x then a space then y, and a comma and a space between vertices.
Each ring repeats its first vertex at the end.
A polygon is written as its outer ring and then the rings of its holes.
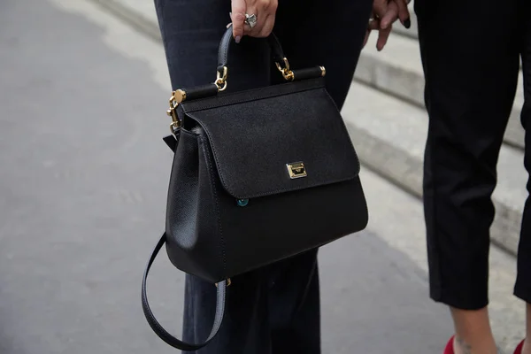
MULTIPOLYGON (((416 19, 376 35, 343 117, 362 161, 366 231, 320 251, 323 353, 440 353, 421 197, 427 133, 416 19)), ((212 68, 213 72, 213 68, 212 68)), ((172 353, 142 314, 164 227, 171 87, 151 0, 0 1, 0 353, 172 353)), ((523 337, 512 296, 527 192, 521 85, 499 163, 490 299, 500 345, 523 337)), ((162 254, 153 310, 181 333, 183 274, 162 254)))

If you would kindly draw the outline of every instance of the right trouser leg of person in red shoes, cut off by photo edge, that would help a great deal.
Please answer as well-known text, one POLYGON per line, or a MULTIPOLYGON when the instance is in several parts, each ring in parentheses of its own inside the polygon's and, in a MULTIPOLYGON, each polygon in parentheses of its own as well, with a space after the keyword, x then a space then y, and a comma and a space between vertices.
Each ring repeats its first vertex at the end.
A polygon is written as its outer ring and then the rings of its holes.
MULTIPOLYGON (((531 5, 526 4, 526 12, 531 10, 531 5)), ((520 24, 525 26, 524 40, 522 41, 521 58, 524 76, 524 106, 522 107, 521 121, 526 129, 526 152, 524 164, 527 173, 531 175, 531 24, 522 16, 520 24)), ((527 190, 531 192, 531 177, 527 181, 527 190)), ((522 218, 522 230, 519 242, 518 278, 514 294, 527 303, 527 342, 524 347, 525 354, 531 354, 531 197, 527 197, 522 218)))

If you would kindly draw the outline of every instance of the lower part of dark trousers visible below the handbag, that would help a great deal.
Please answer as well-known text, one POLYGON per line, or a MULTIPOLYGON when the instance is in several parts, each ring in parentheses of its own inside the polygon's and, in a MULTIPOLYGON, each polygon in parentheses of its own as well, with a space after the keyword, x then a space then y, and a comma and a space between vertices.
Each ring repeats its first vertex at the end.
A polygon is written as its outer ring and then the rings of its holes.
MULTIPOLYGON (((233 279, 219 335, 197 354, 319 354, 319 270, 312 250, 233 279)), ((204 339, 215 287, 187 276, 183 337, 204 339)))

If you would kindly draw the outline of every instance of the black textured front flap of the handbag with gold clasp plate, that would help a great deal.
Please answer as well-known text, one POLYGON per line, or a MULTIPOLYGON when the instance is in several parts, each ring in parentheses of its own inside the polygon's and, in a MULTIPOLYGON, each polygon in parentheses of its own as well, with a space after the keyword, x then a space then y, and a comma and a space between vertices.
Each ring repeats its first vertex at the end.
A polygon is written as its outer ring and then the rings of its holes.
MULTIPOLYGON (((208 136, 219 178, 248 199, 347 181, 359 161, 321 85, 289 83, 214 97, 190 109, 208 136)), ((192 105, 193 107, 193 105, 192 105)))

